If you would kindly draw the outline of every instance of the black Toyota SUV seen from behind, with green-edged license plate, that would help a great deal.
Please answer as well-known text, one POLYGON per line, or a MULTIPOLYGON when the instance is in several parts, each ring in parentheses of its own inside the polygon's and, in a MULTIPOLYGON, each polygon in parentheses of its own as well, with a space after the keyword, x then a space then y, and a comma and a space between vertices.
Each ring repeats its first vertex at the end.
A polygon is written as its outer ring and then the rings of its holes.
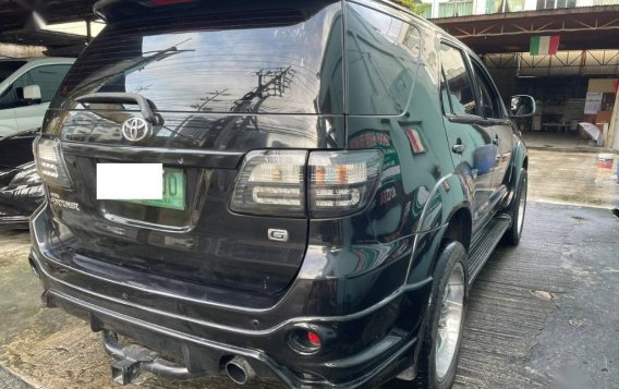
POLYGON ((471 50, 390 2, 96 11, 35 143, 31 264, 113 378, 449 387, 469 288, 520 240, 532 98, 508 113, 471 50), (161 163, 161 197, 98 199, 112 162, 161 163))

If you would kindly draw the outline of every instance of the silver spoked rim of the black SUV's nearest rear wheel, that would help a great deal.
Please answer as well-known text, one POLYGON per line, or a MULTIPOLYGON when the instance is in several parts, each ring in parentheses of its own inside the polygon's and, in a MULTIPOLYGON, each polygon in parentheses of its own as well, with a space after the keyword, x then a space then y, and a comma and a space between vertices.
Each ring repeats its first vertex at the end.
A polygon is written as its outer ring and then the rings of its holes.
POLYGON ((456 355, 464 303, 464 270, 457 264, 442 294, 436 339, 436 375, 445 378, 456 355))

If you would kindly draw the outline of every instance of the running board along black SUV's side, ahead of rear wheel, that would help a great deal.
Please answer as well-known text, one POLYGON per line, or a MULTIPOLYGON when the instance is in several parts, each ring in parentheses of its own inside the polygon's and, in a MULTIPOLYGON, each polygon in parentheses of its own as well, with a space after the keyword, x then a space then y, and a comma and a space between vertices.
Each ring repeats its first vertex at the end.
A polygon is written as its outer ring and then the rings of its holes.
POLYGON ((469 253, 469 285, 475 281, 510 226, 511 218, 508 215, 499 215, 477 233, 477 239, 473 240, 469 253))

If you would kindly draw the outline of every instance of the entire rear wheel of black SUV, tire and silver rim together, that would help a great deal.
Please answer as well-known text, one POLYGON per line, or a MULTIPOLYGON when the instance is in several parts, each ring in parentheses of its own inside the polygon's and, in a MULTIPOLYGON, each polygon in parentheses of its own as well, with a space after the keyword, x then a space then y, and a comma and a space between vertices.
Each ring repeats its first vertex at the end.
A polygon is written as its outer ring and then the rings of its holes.
POLYGON ((456 367, 466 313, 466 251, 460 242, 444 244, 434 270, 434 284, 424 320, 417 375, 393 379, 388 388, 448 389, 456 367))

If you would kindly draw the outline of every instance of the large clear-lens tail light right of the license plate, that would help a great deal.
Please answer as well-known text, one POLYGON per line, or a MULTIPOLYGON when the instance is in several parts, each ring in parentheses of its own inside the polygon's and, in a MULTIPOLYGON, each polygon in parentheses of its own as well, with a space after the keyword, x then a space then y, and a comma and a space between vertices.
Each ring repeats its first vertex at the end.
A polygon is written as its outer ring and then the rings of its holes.
POLYGON ((310 212, 314 218, 354 214, 374 193, 381 161, 379 150, 314 151, 308 160, 305 151, 252 151, 241 167, 230 208, 291 217, 310 212))

